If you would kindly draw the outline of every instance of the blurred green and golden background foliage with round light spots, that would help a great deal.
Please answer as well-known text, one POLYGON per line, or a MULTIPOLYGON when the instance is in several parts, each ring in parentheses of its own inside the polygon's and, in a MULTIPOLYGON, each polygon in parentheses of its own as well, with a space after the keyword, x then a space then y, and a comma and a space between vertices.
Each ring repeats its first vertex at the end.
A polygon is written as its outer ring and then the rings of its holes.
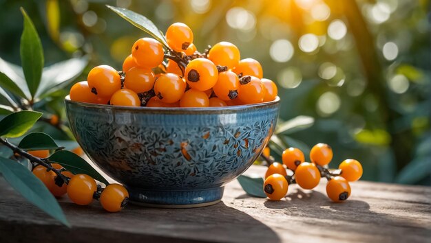
MULTIPOLYGON (((242 58, 259 60, 279 86, 280 119, 314 118, 280 135, 286 146, 328 143, 331 167, 355 158, 365 180, 431 185, 430 1, 0 0, 1 58, 20 64, 23 6, 45 65, 90 56, 76 81, 95 65, 120 69, 145 34, 105 4, 143 14, 160 30, 186 23, 200 51, 227 40, 242 58)), ((280 159, 277 149, 272 155, 280 159)))

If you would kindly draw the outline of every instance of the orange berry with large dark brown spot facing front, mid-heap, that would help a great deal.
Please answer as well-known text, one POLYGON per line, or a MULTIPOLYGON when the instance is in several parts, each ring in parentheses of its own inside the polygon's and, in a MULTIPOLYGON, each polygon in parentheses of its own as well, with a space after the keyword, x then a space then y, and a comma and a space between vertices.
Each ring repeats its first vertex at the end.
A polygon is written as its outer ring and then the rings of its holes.
POLYGON ((185 79, 191 89, 206 91, 211 89, 217 82, 218 70, 210 60, 196 58, 187 65, 185 79))

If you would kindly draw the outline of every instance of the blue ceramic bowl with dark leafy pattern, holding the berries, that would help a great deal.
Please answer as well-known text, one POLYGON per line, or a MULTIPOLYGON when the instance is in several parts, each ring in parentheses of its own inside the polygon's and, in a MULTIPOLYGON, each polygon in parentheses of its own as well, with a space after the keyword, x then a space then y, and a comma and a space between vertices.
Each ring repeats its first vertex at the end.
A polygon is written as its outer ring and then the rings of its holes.
POLYGON ((277 122, 273 102, 210 108, 86 104, 65 99, 70 128, 135 203, 200 207, 257 159, 277 122))

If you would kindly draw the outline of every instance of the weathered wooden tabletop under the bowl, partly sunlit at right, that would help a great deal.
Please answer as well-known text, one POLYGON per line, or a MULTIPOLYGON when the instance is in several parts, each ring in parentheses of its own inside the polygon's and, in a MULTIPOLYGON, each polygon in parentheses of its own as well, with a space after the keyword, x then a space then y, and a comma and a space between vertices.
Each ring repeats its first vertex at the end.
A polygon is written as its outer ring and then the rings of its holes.
MULTIPOLYGON (((246 174, 264 174, 253 166, 246 174)), ((322 180, 325 181, 325 180, 322 180)), ((129 205, 120 213, 98 202, 61 200, 72 229, 27 203, 0 179, 0 242, 431 242, 431 187, 352 183, 346 203, 331 203, 325 184, 289 187, 272 202, 227 185, 222 203, 197 209, 129 205)))

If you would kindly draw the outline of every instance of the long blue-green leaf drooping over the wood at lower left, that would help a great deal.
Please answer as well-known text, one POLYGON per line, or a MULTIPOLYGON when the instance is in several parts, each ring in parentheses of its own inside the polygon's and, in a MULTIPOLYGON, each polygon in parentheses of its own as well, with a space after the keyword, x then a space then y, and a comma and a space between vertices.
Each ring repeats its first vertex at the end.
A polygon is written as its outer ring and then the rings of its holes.
POLYGON ((6 181, 30 203, 70 227, 57 200, 43 185, 42 181, 26 167, 10 159, 0 157, 0 172, 6 181))

